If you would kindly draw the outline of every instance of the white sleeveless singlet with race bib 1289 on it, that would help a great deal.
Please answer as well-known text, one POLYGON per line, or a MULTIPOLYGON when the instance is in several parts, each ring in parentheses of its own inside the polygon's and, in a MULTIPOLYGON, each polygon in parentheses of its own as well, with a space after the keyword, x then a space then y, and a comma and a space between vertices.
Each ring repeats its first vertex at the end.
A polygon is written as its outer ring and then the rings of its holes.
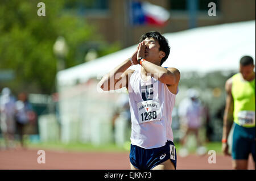
POLYGON ((166 145, 167 140, 173 141, 171 115, 176 95, 154 77, 143 81, 141 66, 131 75, 128 91, 131 144, 151 149, 166 145))

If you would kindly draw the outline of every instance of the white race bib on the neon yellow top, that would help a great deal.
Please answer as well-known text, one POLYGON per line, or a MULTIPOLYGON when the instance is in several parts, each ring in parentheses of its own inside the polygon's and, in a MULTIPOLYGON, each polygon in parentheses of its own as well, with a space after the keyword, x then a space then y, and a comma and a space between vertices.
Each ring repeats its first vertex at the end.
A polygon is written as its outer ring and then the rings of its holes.
POLYGON ((254 125, 255 124, 255 111, 240 111, 237 114, 238 123, 240 125, 254 125))

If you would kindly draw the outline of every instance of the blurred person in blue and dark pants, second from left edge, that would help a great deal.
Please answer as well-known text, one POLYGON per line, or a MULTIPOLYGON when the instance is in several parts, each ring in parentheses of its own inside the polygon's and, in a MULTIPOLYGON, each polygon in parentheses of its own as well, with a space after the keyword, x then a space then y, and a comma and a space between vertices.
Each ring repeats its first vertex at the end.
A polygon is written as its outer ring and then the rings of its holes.
POLYGON ((24 127, 30 121, 35 121, 36 115, 35 112, 32 111, 32 106, 28 102, 27 95, 22 92, 18 95, 18 101, 15 104, 16 112, 15 112, 15 120, 17 132, 19 134, 20 145, 24 148, 23 135, 24 135, 24 127))

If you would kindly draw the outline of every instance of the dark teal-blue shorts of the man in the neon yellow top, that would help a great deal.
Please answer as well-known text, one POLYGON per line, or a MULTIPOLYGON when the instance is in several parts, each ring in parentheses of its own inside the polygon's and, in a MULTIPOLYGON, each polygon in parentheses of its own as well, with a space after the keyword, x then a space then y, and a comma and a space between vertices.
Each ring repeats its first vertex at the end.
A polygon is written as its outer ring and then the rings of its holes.
POLYGON ((232 158, 248 159, 250 153, 255 162, 255 127, 245 128, 234 123, 232 158))

